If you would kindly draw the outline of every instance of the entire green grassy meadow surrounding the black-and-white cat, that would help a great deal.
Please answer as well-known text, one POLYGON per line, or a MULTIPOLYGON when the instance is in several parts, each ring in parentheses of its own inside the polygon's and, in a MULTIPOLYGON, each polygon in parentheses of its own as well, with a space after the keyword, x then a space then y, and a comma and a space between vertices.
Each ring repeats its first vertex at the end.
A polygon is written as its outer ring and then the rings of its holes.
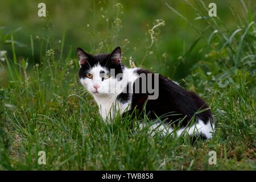
POLYGON ((256 4, 214 1, 209 17, 210 2, 45 1, 46 17, 37 1, 0 2, 0 169, 255 170, 256 4), (129 115, 102 122, 79 82, 76 48, 117 46, 127 67, 203 97, 213 138, 149 137, 131 129, 129 115))

